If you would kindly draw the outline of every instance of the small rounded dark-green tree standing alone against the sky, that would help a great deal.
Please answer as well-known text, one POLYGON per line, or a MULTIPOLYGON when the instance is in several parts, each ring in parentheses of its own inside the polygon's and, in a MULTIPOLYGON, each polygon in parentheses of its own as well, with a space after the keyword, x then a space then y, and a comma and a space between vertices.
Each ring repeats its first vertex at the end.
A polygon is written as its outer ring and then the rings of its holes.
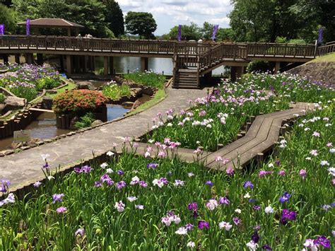
POLYGON ((138 34, 140 38, 153 37, 153 32, 157 29, 157 24, 153 15, 148 12, 129 11, 126 16, 127 32, 133 35, 138 34))

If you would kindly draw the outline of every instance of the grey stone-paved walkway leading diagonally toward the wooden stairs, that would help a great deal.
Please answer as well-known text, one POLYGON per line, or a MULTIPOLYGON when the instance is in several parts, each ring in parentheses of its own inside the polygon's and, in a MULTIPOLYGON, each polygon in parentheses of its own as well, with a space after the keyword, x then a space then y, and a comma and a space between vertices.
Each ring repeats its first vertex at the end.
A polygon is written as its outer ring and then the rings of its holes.
POLYGON ((41 154, 48 153, 51 168, 56 168, 59 165, 66 167, 80 160, 89 160, 93 158, 93 152, 96 155, 106 153, 112 150, 112 143, 121 142, 120 136, 136 138, 146 134, 148 127, 152 126, 151 119, 158 112, 165 112, 169 108, 176 112, 187 109, 188 100, 203 97, 207 91, 169 88, 167 94, 165 100, 137 115, 0 158, 0 179, 6 177, 11 180, 11 190, 42 180, 44 175, 41 171, 41 154))

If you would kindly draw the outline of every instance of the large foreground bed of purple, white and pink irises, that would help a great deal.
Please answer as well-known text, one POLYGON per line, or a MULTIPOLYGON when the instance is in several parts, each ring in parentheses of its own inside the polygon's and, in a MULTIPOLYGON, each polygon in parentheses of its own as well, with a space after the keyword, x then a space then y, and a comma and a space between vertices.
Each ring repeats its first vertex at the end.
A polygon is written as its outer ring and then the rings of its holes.
MULTIPOLYGON (((32 199, 9 194, 0 207, 0 243, 63 250, 329 248, 333 119, 334 103, 319 105, 295 124, 278 156, 252 173, 107 153, 107 163, 35 183, 32 199)), ((43 170, 48 176, 46 163, 43 170)))

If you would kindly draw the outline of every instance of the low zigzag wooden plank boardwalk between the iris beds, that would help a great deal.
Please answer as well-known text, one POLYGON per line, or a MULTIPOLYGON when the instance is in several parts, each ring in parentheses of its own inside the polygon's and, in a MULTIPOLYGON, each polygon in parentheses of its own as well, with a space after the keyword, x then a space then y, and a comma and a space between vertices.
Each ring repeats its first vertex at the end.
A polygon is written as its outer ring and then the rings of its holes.
MULTIPOLYGON (((312 110, 314 105, 310 103, 296 103, 289 110, 273 112, 266 115, 259 115, 252 122, 245 136, 237 139, 231 144, 224 146, 215 152, 204 151, 200 156, 196 156, 194 149, 177 148, 175 155, 188 163, 194 161, 203 162, 208 168, 214 170, 225 170, 226 168, 242 168, 252 161, 259 161, 264 153, 270 151, 278 144, 278 136, 285 131, 283 124, 290 123, 297 117, 305 115, 308 110, 312 110), (225 165, 216 162, 216 157, 221 156, 229 161, 225 165)), ((136 154, 141 156, 146 152, 147 146, 151 144, 139 143, 136 154)), ((121 150, 121 149, 119 149, 121 150)), ((134 149, 127 148, 127 151, 134 149)), ((170 157, 172 152, 169 151, 170 157)), ((153 156, 158 155, 158 150, 153 146, 153 156)))

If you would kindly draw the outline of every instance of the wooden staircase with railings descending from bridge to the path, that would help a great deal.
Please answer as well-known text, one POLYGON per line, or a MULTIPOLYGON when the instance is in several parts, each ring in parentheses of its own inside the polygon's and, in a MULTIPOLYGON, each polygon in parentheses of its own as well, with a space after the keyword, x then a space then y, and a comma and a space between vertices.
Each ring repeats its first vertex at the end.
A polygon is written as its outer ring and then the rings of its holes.
MULTIPOLYGON (((196 50, 195 50, 196 52, 196 50)), ((174 54, 173 88, 200 88, 200 76, 225 62, 245 62, 247 45, 220 43, 201 53, 174 54)))

